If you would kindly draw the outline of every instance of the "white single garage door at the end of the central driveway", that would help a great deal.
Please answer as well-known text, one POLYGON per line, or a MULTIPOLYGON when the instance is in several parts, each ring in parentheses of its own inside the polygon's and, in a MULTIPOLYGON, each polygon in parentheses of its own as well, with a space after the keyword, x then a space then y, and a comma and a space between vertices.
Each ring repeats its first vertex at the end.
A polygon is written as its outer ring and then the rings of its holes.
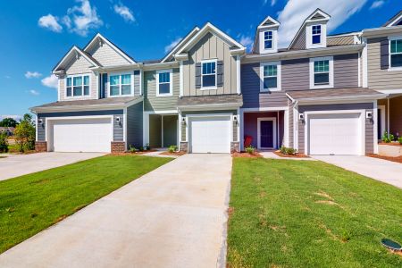
POLYGON ((230 153, 230 117, 191 118, 188 138, 191 153, 230 153))

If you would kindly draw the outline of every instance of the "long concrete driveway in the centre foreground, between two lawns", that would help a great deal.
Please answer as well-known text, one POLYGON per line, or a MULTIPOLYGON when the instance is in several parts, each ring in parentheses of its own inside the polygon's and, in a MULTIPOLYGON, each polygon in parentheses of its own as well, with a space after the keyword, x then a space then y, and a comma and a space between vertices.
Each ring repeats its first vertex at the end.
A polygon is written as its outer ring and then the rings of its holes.
POLYGON ((0 255, 0 267, 225 267, 230 155, 183 155, 0 255))

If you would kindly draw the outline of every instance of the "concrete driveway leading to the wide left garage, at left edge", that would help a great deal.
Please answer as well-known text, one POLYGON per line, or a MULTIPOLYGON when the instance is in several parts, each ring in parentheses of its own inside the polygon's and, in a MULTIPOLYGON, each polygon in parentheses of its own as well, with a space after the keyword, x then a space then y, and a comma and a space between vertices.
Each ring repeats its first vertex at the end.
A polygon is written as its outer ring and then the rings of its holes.
POLYGON ((69 163, 76 163, 103 153, 38 153, 31 155, 7 155, 0 158, 0 180, 41 172, 69 163))

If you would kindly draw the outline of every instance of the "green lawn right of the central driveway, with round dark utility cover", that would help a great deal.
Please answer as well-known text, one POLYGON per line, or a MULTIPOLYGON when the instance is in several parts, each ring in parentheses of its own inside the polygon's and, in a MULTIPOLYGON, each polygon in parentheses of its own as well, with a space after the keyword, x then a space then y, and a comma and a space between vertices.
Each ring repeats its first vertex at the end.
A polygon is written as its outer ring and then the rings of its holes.
POLYGON ((402 242, 399 188, 327 163, 246 158, 231 184, 230 267, 402 267, 380 244, 402 242))

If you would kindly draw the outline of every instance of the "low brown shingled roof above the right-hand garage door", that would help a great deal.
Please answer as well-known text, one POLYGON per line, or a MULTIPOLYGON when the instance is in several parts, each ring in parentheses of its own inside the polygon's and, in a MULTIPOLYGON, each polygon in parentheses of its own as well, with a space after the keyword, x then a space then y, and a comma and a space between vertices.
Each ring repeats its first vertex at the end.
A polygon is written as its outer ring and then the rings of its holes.
POLYGON ((294 100, 327 100, 327 99, 379 99, 387 96, 381 92, 369 88, 326 88, 326 89, 307 89, 289 90, 287 96, 294 100))

